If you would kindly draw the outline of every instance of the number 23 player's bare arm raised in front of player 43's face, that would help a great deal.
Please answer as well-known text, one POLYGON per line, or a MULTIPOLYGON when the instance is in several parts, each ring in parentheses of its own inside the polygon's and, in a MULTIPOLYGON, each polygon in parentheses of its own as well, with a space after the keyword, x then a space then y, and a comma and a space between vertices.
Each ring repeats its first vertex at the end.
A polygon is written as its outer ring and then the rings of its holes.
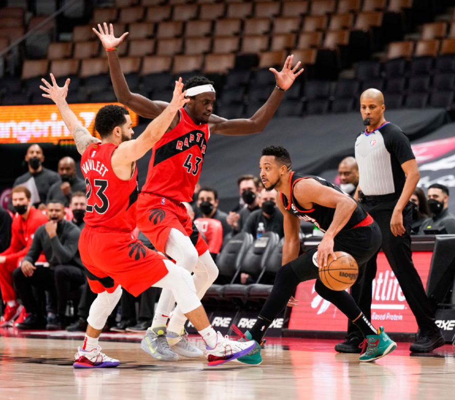
POLYGON ((172 101, 164 111, 157 116, 134 140, 123 142, 112 154, 112 162, 120 165, 127 165, 135 162, 146 154, 166 133, 178 110, 190 101, 185 98, 187 91, 182 92, 182 78, 175 81, 174 95, 172 101))

